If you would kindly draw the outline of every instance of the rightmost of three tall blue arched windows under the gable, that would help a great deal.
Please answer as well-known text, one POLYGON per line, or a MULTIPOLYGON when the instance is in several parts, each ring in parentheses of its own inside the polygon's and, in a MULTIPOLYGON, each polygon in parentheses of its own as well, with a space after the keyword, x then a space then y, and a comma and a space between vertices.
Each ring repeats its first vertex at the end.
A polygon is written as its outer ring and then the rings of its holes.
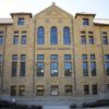
POLYGON ((63 28, 63 44, 64 45, 70 45, 71 44, 70 28, 66 27, 66 26, 63 28))

